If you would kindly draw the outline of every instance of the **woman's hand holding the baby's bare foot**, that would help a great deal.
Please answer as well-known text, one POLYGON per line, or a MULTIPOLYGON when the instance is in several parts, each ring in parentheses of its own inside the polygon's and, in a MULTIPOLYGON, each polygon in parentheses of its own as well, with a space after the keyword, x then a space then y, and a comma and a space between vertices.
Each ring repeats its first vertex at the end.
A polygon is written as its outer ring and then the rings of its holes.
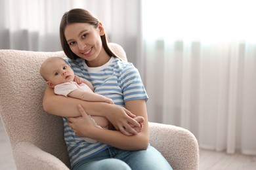
POLYGON ((139 127, 140 124, 134 120, 135 114, 132 114, 129 110, 118 105, 112 105, 113 107, 108 110, 106 118, 112 123, 112 125, 121 133, 125 135, 135 135, 138 132, 134 127, 139 127))

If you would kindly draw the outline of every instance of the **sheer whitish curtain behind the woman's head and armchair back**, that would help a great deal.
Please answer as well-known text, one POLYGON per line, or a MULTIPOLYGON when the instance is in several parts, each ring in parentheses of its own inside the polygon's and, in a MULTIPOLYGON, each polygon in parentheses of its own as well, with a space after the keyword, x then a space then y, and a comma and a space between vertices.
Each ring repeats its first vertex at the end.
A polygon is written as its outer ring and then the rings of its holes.
POLYGON ((64 12, 90 10, 104 25, 111 42, 121 44, 135 62, 140 36, 140 1, 0 0, 0 49, 62 50, 59 24, 64 12))

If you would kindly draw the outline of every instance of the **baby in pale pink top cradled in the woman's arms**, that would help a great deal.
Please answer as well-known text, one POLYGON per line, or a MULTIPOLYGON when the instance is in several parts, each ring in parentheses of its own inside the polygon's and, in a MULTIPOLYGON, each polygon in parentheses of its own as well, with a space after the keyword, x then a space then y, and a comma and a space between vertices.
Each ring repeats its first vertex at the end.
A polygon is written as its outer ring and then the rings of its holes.
MULTIPOLYGON (((54 93, 58 95, 74 97, 85 101, 100 101, 114 104, 112 99, 94 93, 93 84, 84 78, 75 76, 73 69, 62 58, 51 57, 46 59, 41 65, 40 74, 47 82, 47 86, 54 88, 54 93)), ((111 126, 110 122, 102 116, 89 115, 89 118, 98 128, 109 129, 111 126)), ((137 116, 134 119, 140 124, 140 127, 133 127, 139 133, 143 128, 144 118, 137 116)), ((88 143, 97 142, 88 137, 82 137, 82 139, 88 143)))

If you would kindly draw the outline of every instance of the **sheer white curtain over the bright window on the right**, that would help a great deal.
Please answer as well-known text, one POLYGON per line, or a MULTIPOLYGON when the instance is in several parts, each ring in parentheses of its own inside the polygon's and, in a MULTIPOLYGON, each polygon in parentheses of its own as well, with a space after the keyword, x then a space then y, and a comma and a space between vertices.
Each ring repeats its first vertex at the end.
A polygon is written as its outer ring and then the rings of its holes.
POLYGON ((142 1, 139 65, 150 120, 185 127, 201 148, 256 154, 253 1, 142 1))

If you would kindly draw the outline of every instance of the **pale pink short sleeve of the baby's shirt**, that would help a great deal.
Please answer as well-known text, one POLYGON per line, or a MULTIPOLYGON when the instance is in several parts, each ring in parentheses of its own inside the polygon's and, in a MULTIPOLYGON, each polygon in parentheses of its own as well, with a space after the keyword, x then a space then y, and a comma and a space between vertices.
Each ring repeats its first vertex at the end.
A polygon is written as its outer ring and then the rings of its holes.
POLYGON ((68 93, 73 92, 77 88, 78 87, 74 82, 64 82, 54 86, 54 93, 67 97, 68 93))

